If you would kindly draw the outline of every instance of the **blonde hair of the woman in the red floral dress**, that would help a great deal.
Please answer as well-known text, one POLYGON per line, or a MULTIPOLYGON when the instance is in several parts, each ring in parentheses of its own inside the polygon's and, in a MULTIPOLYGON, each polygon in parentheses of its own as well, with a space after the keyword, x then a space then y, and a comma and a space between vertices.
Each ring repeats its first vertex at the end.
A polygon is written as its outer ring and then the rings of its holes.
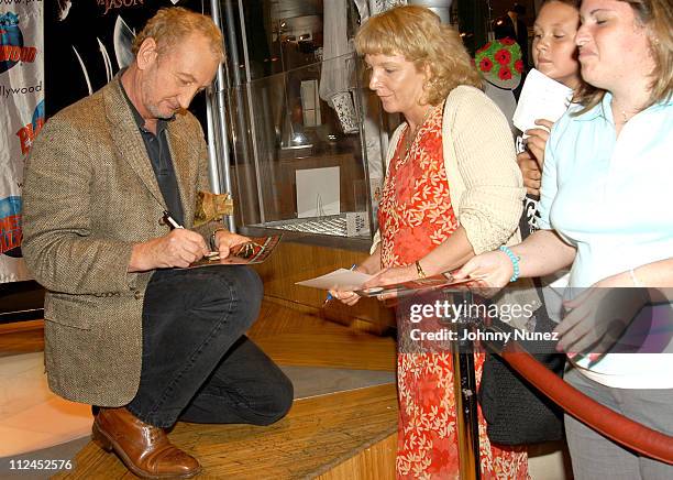
POLYGON ((369 18, 355 35, 360 55, 402 55, 419 72, 428 68, 424 101, 439 105, 459 85, 482 88, 482 78, 459 33, 432 11, 396 7, 369 18))

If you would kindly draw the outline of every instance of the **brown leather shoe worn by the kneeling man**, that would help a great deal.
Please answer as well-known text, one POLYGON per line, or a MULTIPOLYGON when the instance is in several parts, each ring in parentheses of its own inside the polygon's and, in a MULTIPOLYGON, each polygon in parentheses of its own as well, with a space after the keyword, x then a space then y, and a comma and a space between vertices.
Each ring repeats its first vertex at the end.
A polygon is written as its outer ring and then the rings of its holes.
POLYGON ((119 456, 142 478, 190 478, 201 471, 198 460, 170 444, 163 428, 147 425, 126 408, 100 408, 92 439, 119 456))

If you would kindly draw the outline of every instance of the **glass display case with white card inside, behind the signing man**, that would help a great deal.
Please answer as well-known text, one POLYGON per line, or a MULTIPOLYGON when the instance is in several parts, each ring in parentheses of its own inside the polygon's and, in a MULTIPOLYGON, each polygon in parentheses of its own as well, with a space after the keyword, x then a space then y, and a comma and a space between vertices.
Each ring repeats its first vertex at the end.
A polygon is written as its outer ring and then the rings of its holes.
POLYGON ((356 62, 347 54, 229 90, 236 225, 369 234, 365 114, 356 62), (320 96, 321 74, 339 68, 349 75, 328 103, 320 96))

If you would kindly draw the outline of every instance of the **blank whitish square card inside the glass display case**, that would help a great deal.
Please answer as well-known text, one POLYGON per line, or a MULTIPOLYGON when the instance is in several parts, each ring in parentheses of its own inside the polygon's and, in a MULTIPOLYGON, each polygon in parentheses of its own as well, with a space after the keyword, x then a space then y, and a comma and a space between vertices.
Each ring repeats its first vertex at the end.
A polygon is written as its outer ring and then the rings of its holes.
POLYGON ((340 214, 341 192, 338 166, 298 170, 295 175, 299 218, 340 214))

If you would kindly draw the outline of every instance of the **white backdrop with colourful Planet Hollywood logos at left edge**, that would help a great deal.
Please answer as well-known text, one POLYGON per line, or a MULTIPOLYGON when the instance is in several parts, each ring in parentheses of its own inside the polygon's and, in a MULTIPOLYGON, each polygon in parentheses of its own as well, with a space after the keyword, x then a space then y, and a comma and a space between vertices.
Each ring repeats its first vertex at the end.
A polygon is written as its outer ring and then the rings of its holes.
POLYGON ((43 8, 0 3, 0 282, 27 280, 21 258, 23 163, 44 124, 43 8))

